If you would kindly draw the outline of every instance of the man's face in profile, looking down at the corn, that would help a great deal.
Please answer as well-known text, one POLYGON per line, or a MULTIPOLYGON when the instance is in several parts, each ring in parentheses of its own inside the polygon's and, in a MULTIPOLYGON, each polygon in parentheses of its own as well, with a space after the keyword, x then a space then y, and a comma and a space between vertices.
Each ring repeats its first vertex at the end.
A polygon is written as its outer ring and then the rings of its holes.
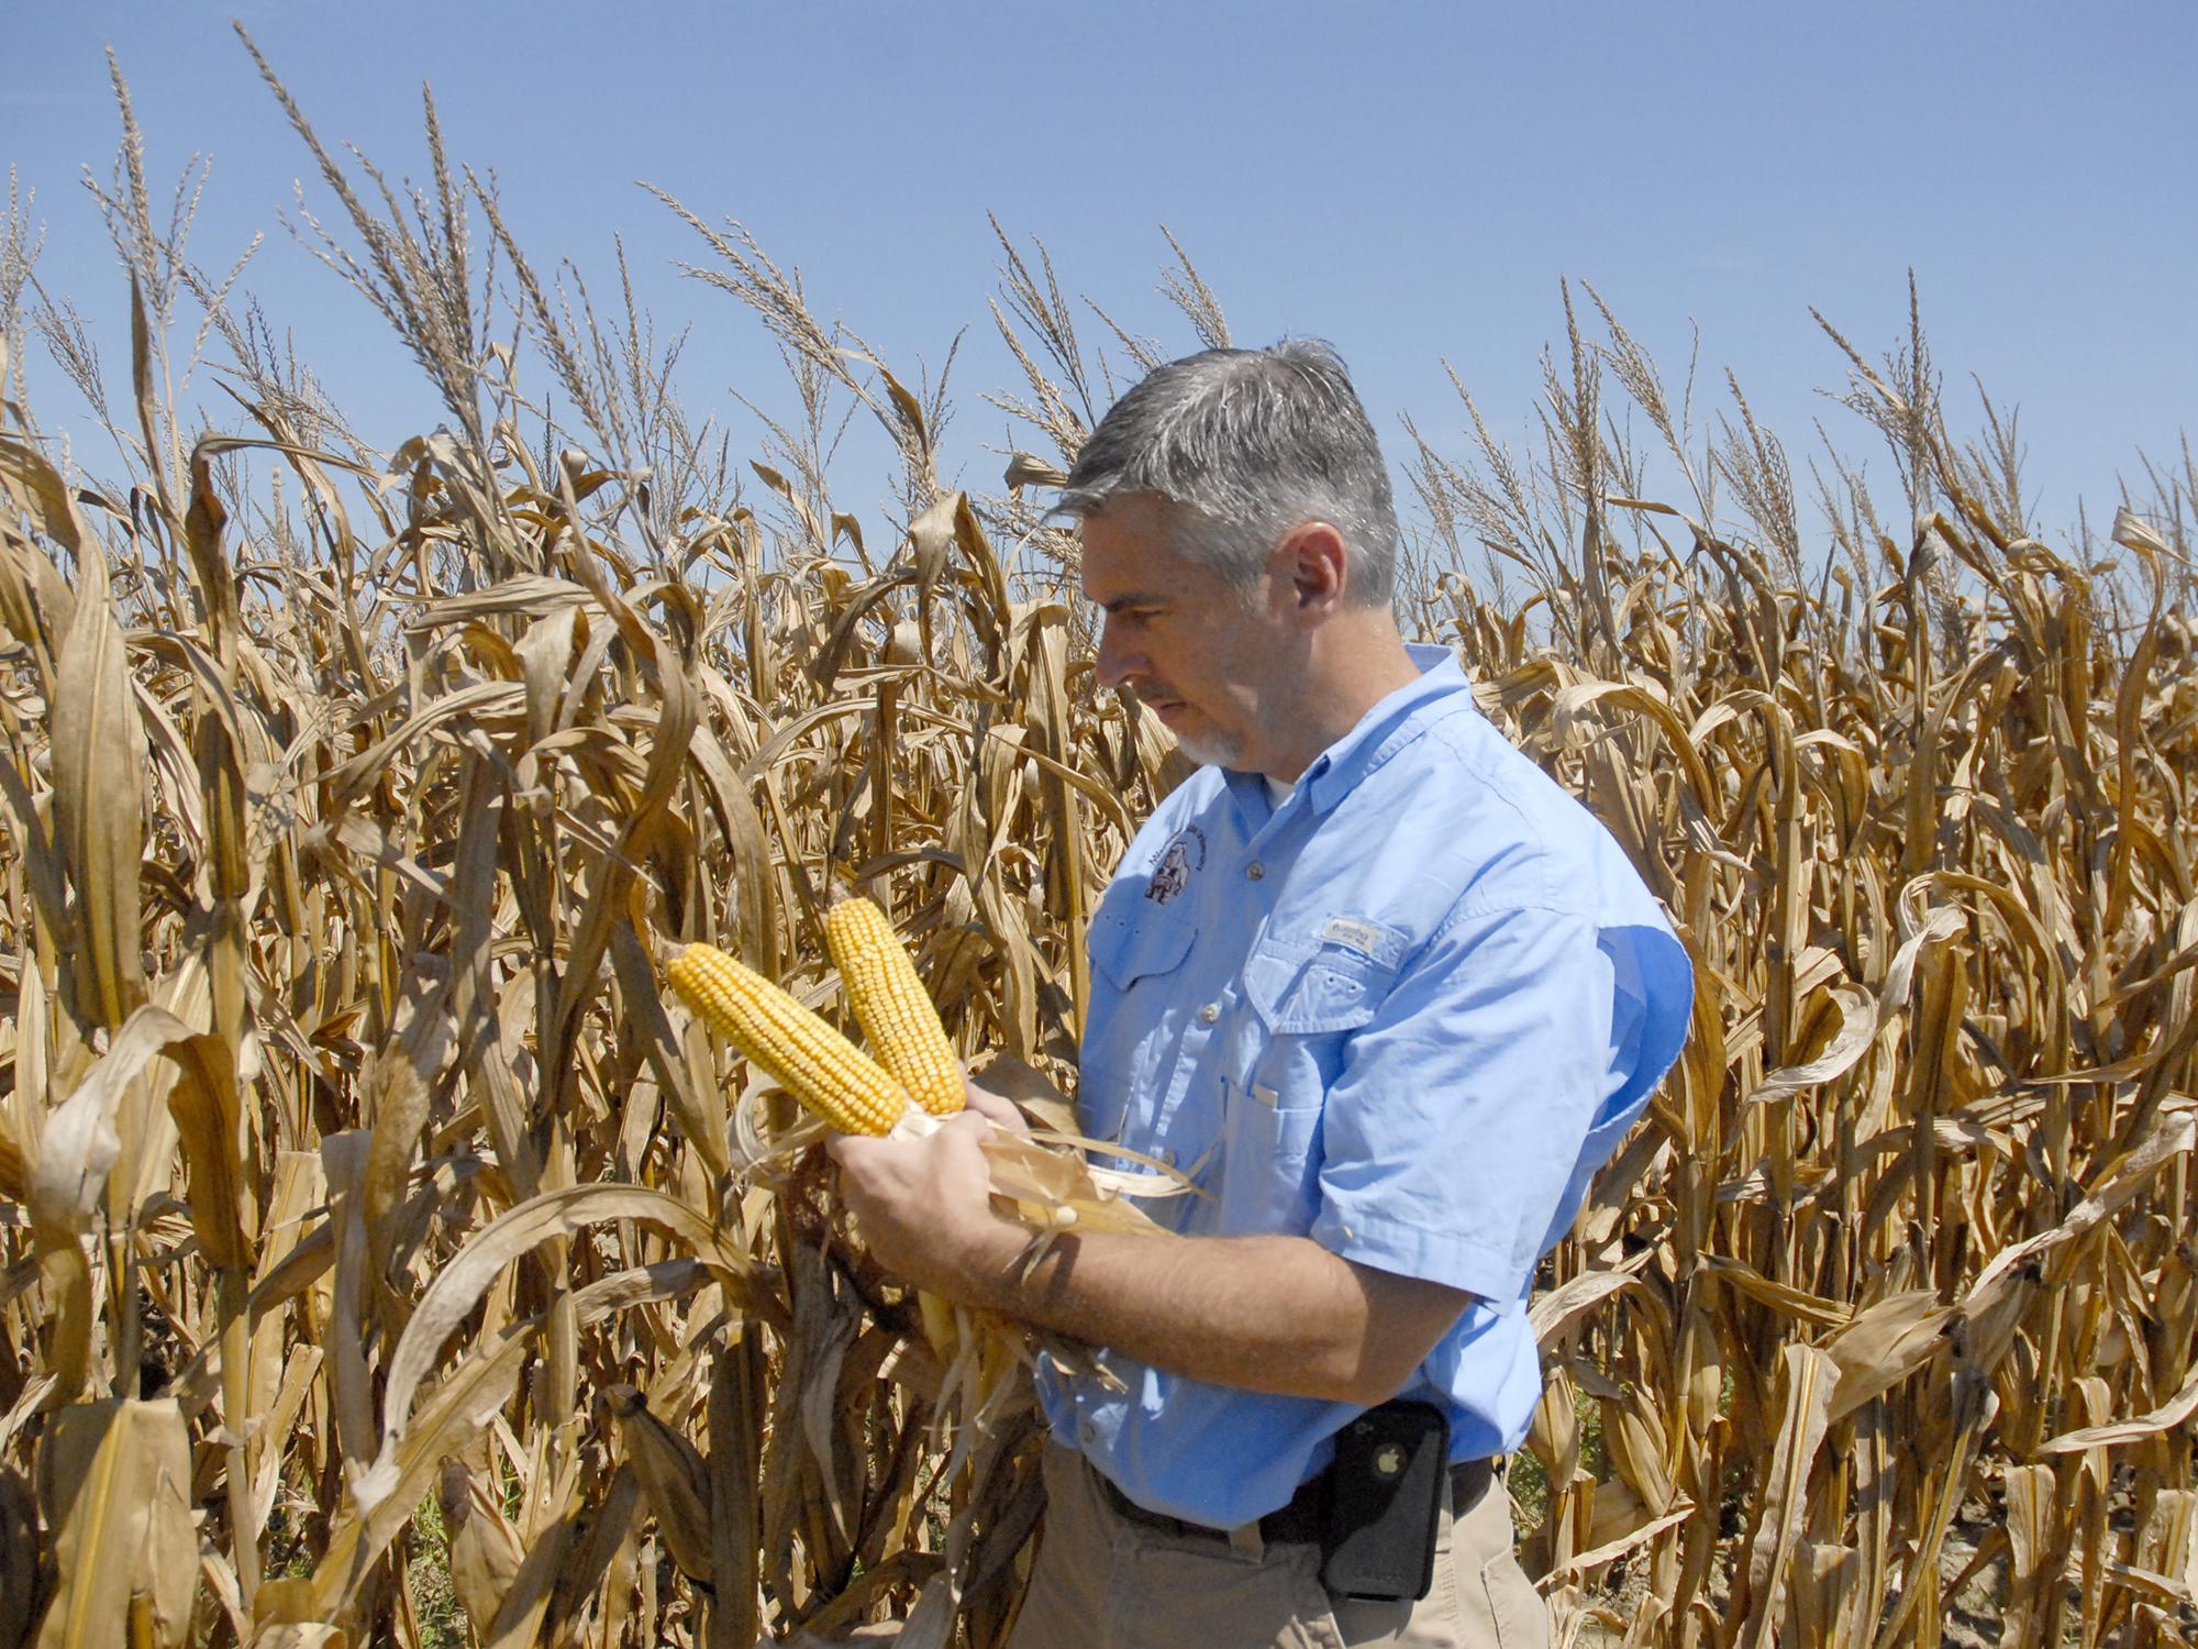
POLYGON ((1084 594, 1106 613, 1099 684, 1134 686, 1191 761, 1266 772, 1303 642, 1275 611, 1273 576, 1244 591, 1176 547, 1191 521, 1150 493, 1086 517, 1084 594))

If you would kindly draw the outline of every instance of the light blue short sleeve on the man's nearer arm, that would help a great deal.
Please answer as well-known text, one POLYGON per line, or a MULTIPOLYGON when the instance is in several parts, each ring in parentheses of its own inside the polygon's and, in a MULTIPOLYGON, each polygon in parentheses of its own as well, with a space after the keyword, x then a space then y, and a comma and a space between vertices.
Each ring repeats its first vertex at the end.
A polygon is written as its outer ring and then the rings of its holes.
POLYGON ((1314 1240, 1521 1299, 1675 1058, 1690 996, 1668 930, 1545 906, 1455 917, 1330 1086, 1314 1240))

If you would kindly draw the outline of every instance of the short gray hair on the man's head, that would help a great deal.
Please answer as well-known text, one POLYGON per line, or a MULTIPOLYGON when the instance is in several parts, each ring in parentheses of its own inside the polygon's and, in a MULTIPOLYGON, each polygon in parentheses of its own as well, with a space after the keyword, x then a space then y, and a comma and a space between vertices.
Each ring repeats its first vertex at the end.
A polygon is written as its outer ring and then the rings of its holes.
POLYGON ((1130 493, 1194 512, 1200 532, 1183 552, 1240 587, 1284 532, 1328 521, 1352 550, 1352 602, 1389 602, 1389 468, 1343 356, 1319 339, 1154 367, 1099 420, 1055 508, 1088 517, 1130 493))

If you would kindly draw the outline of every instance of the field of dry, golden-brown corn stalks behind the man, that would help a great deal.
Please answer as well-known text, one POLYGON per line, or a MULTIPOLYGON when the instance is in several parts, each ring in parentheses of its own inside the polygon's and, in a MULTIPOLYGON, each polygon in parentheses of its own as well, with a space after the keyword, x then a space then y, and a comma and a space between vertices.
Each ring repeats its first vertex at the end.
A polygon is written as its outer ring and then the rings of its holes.
MULTIPOLYGON (((657 961, 842 1016, 851 879, 967 1058, 1073 1093, 1086 915, 1185 767, 1090 682, 1044 482, 1220 301, 1174 266, 1163 347, 1002 233, 1033 451, 961 493, 941 387, 666 202, 787 358, 741 466, 433 106, 398 187, 266 73, 341 207, 306 233, 448 420, 347 429, 156 222, 119 75, 125 405, 11 202, 0 1645, 998 1645, 1026 1383, 941 1365, 657 961), (40 433, 33 336, 123 479, 40 433), (235 431, 185 411, 200 347, 235 431), (846 416, 899 455, 884 521, 833 501, 846 416)), ((1827 328, 1899 497, 1831 460, 1805 501, 1736 385, 1701 431, 1600 299, 1565 321, 1532 451, 1470 402, 1470 464, 1409 433, 1402 611, 1697 967, 1534 1302, 1558 1642, 2189 1642, 2198 471, 2049 545, 1921 330, 1827 328)))

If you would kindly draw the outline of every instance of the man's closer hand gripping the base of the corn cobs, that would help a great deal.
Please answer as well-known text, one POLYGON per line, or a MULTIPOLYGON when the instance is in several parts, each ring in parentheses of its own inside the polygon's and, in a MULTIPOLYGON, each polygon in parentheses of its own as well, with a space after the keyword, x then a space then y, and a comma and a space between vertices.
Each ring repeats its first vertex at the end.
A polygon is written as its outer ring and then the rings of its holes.
MULTIPOLYGON (((989 1293, 1013 1266, 1029 1236, 991 1211, 991 1165, 980 1141, 993 1132, 991 1106, 1004 1099, 969 1088, 972 1104, 925 1139, 835 1135, 840 1196, 862 1240, 901 1282, 950 1299, 989 1293), (978 1106, 983 1095, 987 1106, 978 1106)), ((1020 1117, 1015 1117, 1020 1124, 1020 1117)))

